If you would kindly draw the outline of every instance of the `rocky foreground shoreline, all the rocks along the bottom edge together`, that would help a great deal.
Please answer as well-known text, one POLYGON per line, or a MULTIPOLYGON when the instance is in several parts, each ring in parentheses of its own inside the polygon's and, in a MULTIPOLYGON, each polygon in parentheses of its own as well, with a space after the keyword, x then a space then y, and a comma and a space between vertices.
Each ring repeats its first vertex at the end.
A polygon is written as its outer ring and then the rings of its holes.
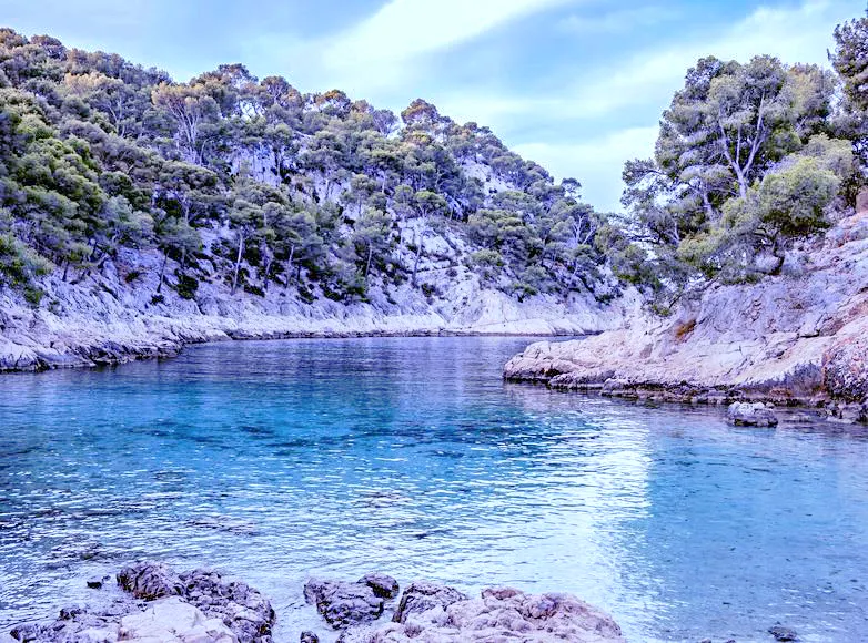
MULTIPOLYGON (((176 573, 157 562, 123 568, 121 593, 95 594, 92 604, 70 606, 54 620, 26 623, 0 642, 65 643, 272 643, 271 602, 242 581, 212 570, 176 573)), ((109 590, 111 579, 88 581, 109 590)), ((528 643, 624 643, 605 612, 571 594, 525 594, 492 588, 472 599, 455 588, 413 582, 403 593, 386 574, 356 582, 310 579, 304 595, 327 630, 283 633, 301 643, 440 643, 521 640, 528 643), (400 599, 398 599, 400 596, 400 599)))

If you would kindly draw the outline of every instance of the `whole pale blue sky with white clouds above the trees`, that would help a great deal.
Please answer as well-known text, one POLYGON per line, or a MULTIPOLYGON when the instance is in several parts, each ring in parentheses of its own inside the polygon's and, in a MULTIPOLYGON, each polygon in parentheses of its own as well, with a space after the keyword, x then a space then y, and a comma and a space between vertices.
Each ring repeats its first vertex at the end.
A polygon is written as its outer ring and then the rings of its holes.
POLYGON ((0 22, 101 49, 176 80, 243 62, 299 90, 402 110, 421 96, 489 125, 614 210, 625 160, 697 58, 826 63, 865 0, 0 0, 0 22))

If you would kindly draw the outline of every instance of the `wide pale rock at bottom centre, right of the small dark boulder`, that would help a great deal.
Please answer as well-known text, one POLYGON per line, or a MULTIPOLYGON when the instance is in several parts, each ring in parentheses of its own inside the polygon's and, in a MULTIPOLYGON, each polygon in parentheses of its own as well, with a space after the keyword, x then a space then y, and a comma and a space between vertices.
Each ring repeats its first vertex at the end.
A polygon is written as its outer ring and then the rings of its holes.
MULTIPOLYGON (((478 599, 431 583, 414 583, 407 595, 423 595, 412 610, 398 611, 392 623, 347 632, 342 643, 441 643, 524 641, 527 643, 623 643, 617 623, 571 594, 525 594, 509 588, 488 589, 478 599), (445 604, 444 604, 445 603, 445 604), (425 609, 422 609, 425 608, 425 609)), ((402 596, 402 604, 405 602, 402 596)), ((410 602, 410 601, 408 601, 410 602)))

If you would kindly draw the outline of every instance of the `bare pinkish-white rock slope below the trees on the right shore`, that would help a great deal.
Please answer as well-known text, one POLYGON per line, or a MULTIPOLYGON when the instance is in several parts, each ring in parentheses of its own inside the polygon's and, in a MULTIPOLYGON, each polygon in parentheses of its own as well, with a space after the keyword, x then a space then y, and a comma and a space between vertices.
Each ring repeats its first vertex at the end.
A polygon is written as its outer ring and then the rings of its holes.
POLYGON ((862 213, 790 253, 780 276, 713 286, 666 318, 642 314, 596 337, 534 344, 504 376, 664 401, 811 404, 856 419, 868 400, 866 338, 862 213))

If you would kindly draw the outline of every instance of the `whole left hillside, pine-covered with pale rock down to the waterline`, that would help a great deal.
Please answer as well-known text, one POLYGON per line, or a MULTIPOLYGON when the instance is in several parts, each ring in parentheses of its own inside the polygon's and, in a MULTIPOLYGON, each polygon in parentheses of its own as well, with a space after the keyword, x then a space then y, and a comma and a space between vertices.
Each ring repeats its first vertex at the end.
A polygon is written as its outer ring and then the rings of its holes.
MULTIPOLYGON (((214 338, 573 334, 606 217, 486 127, 0 30, 0 368, 214 338)), ((603 314, 600 315, 600 312, 603 314)))

